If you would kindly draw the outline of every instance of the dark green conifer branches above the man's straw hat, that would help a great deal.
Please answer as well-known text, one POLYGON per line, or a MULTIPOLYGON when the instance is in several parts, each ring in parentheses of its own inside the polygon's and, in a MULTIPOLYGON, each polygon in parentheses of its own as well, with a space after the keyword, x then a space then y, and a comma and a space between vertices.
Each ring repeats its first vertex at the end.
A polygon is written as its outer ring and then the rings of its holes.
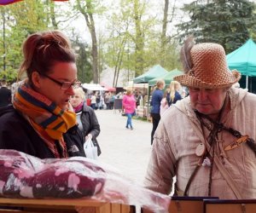
POLYGON ((177 25, 182 40, 193 34, 197 42, 222 44, 227 54, 247 41, 253 34, 250 29, 255 30, 255 3, 246 0, 195 1, 183 11, 190 20, 177 25))

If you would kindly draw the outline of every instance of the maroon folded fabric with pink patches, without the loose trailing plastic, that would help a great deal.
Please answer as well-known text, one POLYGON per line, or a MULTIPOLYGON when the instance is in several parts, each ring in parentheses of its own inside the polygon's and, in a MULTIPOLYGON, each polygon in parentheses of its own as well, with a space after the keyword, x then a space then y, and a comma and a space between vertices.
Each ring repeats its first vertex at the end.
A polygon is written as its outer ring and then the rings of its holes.
POLYGON ((104 170, 91 162, 44 160, 14 150, 0 150, 0 170, 0 195, 11 198, 93 196, 105 182, 104 170))

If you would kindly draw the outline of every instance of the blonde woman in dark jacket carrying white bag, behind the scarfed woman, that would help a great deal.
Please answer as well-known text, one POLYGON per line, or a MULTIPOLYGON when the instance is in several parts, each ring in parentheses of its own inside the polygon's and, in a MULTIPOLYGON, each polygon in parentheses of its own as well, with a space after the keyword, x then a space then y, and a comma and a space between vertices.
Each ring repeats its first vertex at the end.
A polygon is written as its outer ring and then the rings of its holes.
POLYGON ((96 118, 96 114, 91 107, 84 104, 84 90, 82 88, 74 89, 74 95, 70 102, 73 106, 74 112, 77 115, 77 122, 79 124, 79 130, 82 131, 85 141, 91 139, 94 145, 97 147, 98 156, 102 153, 96 137, 100 134, 100 125, 96 118))

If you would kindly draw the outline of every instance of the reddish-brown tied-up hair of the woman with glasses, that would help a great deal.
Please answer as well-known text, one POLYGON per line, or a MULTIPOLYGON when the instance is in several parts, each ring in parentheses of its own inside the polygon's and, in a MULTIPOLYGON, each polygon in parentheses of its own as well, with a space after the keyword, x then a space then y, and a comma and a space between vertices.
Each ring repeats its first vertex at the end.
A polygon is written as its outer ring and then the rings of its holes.
POLYGON ((36 32, 23 43, 24 60, 18 78, 26 72, 32 83, 32 72, 47 74, 55 62, 74 62, 75 54, 69 39, 59 31, 36 32))

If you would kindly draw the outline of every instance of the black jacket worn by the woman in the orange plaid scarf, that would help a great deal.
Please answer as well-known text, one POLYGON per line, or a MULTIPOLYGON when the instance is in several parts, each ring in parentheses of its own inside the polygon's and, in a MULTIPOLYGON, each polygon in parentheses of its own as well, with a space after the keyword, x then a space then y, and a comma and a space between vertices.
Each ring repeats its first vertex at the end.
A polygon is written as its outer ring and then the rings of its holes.
MULTIPOLYGON (((69 157, 84 156, 84 137, 77 126, 63 135, 69 157)), ((38 158, 55 158, 32 125, 12 106, 0 108, 0 148, 15 149, 38 158)))

